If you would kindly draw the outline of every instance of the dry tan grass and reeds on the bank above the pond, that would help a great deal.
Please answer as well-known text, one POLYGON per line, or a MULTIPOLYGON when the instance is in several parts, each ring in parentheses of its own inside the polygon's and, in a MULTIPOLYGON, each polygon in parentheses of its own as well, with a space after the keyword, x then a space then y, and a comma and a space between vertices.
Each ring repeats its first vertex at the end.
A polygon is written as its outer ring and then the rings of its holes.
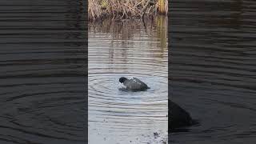
POLYGON ((168 0, 88 0, 90 19, 142 18, 144 14, 167 14, 168 0))

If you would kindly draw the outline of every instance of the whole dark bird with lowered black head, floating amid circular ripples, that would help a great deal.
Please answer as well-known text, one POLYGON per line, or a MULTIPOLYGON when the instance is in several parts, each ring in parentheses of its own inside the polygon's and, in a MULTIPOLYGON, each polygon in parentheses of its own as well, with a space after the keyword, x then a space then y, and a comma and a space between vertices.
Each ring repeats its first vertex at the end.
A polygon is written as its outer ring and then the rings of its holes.
POLYGON ((126 86, 126 90, 139 91, 139 90, 150 89, 149 86, 147 86, 144 82, 142 82, 138 78, 127 79, 125 77, 121 77, 119 78, 119 82, 123 83, 123 85, 126 86))

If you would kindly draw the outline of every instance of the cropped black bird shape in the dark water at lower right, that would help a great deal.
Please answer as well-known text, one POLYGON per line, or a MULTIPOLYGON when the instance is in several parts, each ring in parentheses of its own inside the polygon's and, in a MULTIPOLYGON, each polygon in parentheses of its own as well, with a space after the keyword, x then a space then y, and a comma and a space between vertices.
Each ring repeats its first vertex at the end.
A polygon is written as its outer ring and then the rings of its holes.
POLYGON ((182 107, 178 106, 176 103, 168 100, 168 110, 169 120, 168 120, 168 130, 171 132, 177 128, 182 128, 186 126, 191 126, 194 124, 190 114, 182 107))

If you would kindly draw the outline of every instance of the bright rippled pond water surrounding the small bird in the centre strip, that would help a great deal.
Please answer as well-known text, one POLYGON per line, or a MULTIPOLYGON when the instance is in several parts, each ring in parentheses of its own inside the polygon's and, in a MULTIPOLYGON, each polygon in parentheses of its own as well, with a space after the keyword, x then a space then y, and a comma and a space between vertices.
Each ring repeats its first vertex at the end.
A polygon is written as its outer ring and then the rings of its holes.
POLYGON ((168 127, 166 17, 89 24, 89 143, 164 143, 168 127), (120 77, 149 90, 118 90, 120 77), (158 134, 154 134, 158 133, 158 134))

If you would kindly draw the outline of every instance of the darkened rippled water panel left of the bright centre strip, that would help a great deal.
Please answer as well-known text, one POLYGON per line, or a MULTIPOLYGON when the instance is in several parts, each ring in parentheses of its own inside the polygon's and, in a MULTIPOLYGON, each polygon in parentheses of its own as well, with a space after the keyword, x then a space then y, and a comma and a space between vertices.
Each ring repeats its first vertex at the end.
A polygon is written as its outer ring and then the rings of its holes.
POLYGON ((0 143, 86 141, 83 1, 0 2, 0 143))

